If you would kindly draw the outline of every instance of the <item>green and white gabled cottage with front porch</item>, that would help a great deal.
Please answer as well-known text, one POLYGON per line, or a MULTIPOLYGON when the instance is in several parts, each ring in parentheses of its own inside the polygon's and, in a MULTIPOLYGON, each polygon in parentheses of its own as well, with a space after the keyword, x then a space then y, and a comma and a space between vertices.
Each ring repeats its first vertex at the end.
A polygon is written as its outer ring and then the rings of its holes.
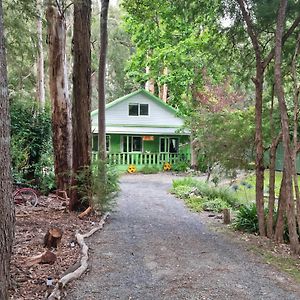
MULTIPOLYGON (((92 117, 92 150, 98 150, 98 110, 92 117)), ((190 161, 190 133, 177 111, 146 90, 138 90, 106 105, 106 150, 120 170, 134 165, 163 168, 190 161)))

